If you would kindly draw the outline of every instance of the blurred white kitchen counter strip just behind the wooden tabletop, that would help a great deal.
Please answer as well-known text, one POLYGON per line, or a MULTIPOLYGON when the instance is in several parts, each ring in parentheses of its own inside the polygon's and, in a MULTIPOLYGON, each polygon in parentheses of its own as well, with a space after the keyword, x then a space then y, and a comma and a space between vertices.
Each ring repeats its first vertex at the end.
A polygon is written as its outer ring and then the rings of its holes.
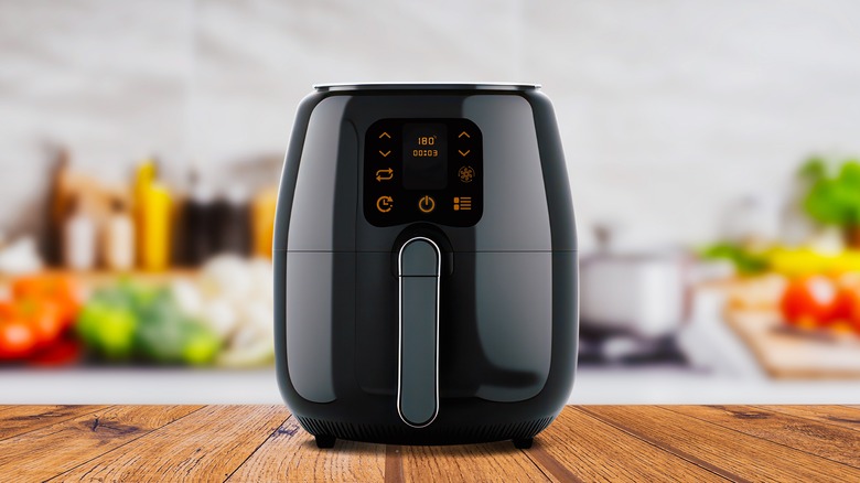
MULTIPOLYGON (((0 405, 278 405, 273 368, 69 367, 0 369, 0 405), (229 390, 225 390, 229 388, 229 390)), ((577 369, 576 405, 858 404, 857 380, 774 380, 679 367, 577 369)))

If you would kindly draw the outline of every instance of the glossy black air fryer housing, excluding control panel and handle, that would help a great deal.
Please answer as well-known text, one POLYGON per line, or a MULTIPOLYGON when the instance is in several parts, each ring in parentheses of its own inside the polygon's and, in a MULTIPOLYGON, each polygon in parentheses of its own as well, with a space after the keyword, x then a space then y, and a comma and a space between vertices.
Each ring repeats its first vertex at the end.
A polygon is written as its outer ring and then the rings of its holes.
POLYGON ((401 444, 523 440, 567 402, 577 245, 551 104, 536 86, 325 86, 299 106, 275 227, 281 394, 318 437, 401 444), (363 210, 365 133, 380 119, 467 119, 483 136, 474 226, 378 227, 363 210), (398 414, 398 253, 438 246, 438 415, 398 414))

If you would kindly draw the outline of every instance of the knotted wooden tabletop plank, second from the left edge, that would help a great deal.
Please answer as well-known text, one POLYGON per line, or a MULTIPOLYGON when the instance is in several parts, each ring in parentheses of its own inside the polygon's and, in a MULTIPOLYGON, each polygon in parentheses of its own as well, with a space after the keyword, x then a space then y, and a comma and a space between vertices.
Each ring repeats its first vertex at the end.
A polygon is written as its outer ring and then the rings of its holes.
MULTIPOLYGON (((120 406, 0 441, 0 476, 45 480, 133 441, 198 407, 120 406)), ((8 481, 0 477, 0 480, 8 481)))

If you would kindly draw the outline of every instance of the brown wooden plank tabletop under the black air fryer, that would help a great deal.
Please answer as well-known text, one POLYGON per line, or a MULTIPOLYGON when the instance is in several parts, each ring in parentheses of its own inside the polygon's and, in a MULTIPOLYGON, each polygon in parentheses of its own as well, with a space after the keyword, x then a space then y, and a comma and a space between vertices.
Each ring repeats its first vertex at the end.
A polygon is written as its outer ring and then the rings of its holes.
POLYGON ((860 406, 570 406, 507 442, 319 450, 283 406, 0 406, 0 481, 860 481, 860 406))

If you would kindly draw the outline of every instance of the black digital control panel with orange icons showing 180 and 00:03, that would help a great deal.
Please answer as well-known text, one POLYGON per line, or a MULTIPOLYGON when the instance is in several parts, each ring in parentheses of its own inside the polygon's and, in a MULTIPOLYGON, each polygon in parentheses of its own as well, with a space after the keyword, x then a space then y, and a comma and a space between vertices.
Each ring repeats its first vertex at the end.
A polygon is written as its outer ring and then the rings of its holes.
POLYGON ((364 146, 364 216, 372 225, 481 219, 483 141, 474 122, 383 119, 364 146))

